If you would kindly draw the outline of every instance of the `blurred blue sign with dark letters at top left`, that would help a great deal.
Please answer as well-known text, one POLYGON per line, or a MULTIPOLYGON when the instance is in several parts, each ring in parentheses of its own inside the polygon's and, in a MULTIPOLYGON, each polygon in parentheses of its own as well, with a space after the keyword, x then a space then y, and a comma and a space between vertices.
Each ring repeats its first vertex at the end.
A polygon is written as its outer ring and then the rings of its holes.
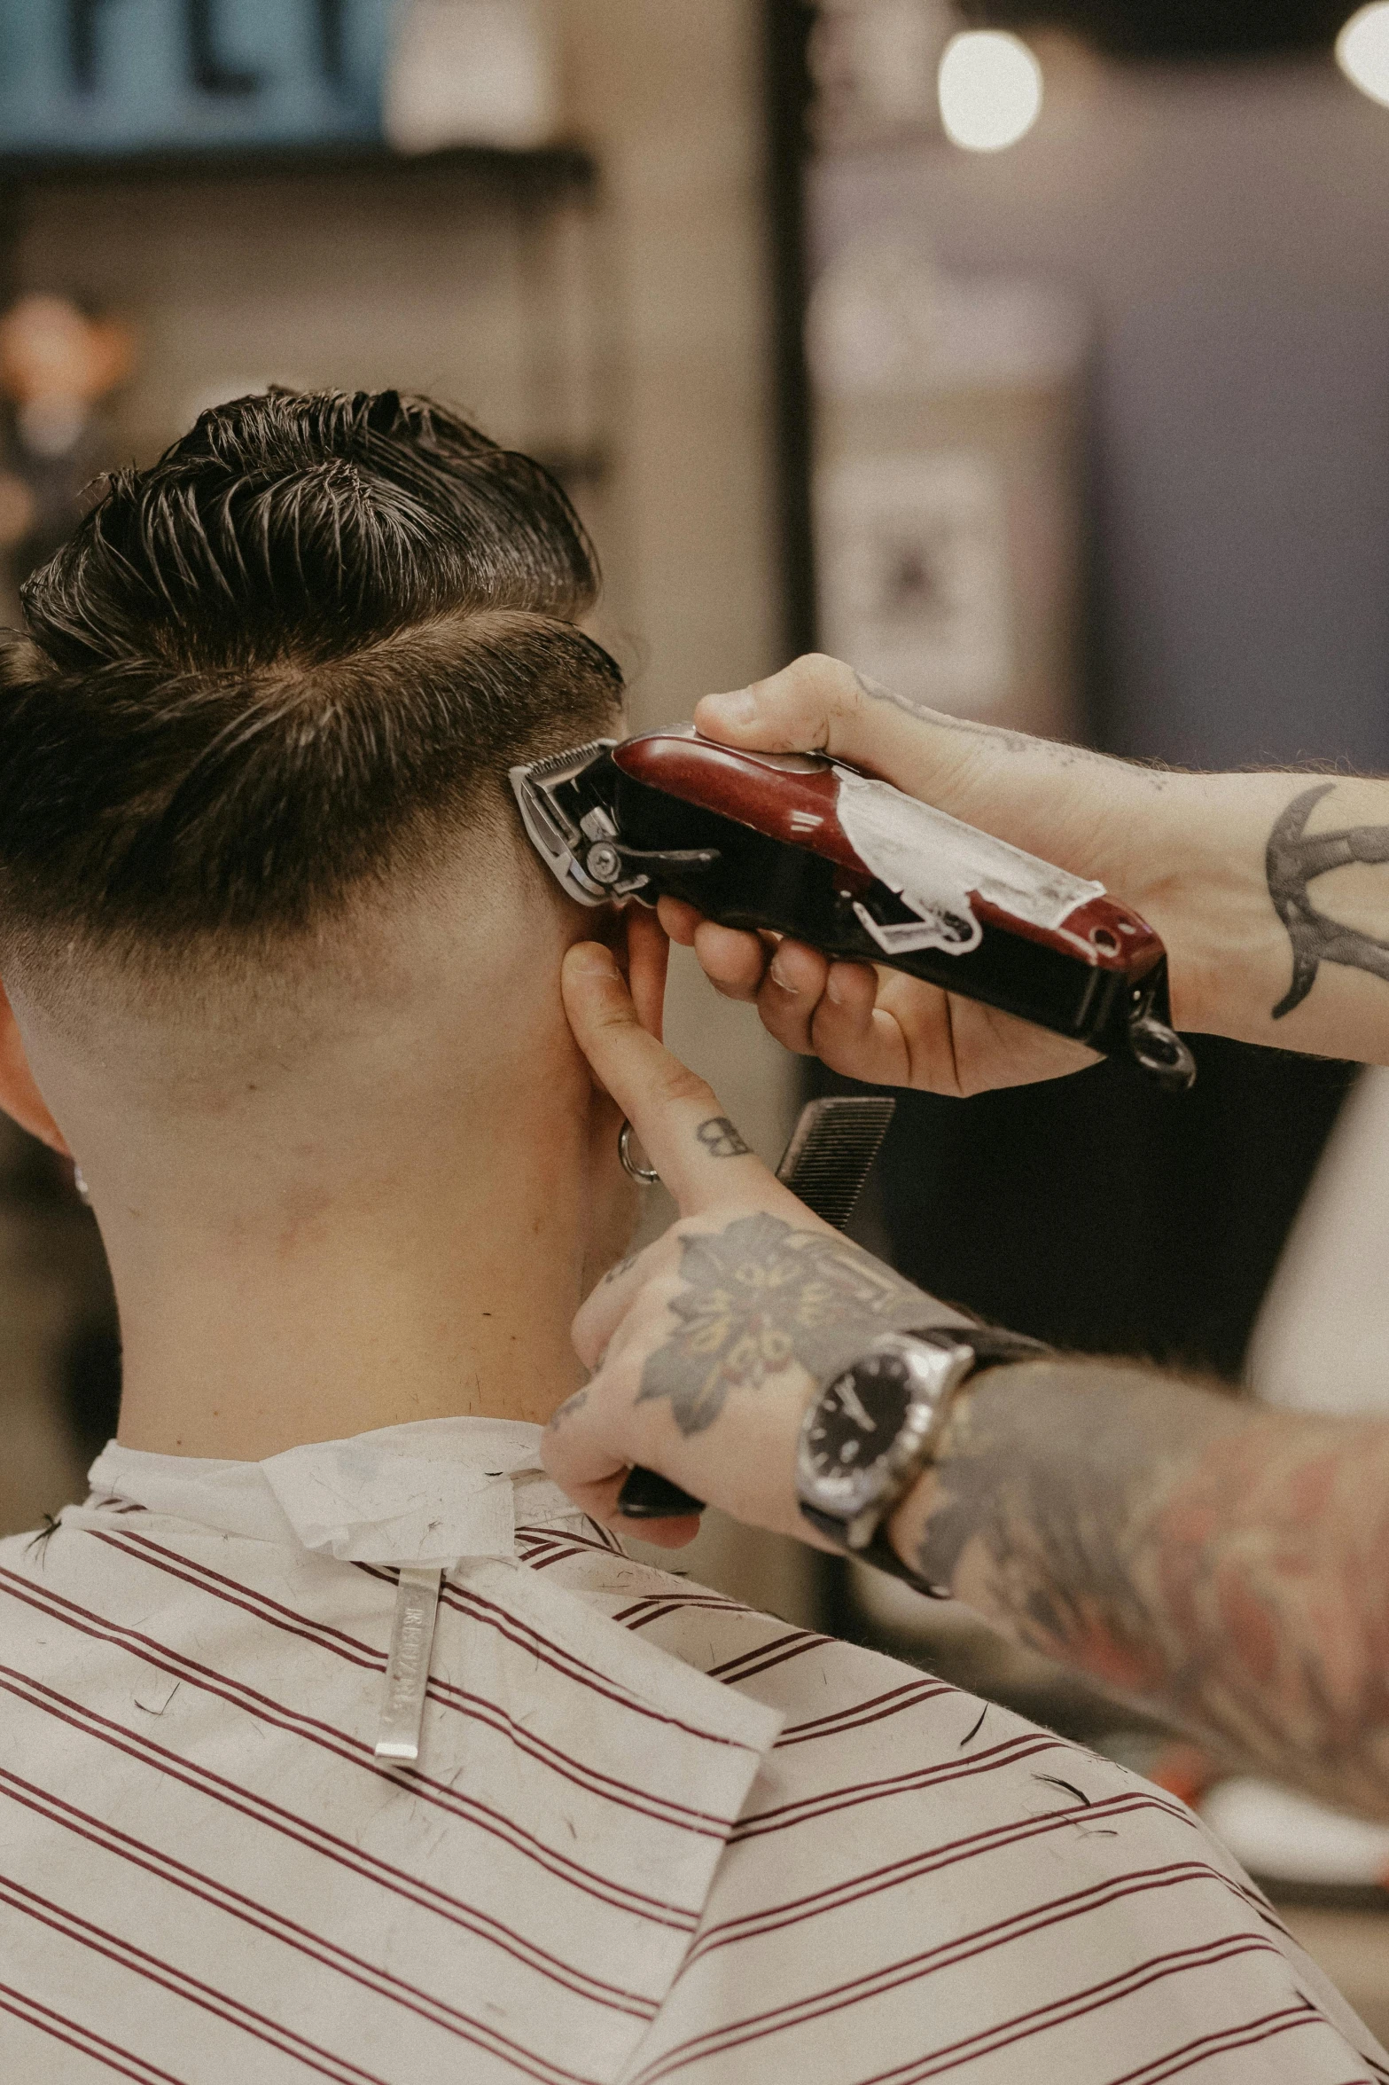
POLYGON ((394 0, 0 0, 0 152, 375 140, 394 0))

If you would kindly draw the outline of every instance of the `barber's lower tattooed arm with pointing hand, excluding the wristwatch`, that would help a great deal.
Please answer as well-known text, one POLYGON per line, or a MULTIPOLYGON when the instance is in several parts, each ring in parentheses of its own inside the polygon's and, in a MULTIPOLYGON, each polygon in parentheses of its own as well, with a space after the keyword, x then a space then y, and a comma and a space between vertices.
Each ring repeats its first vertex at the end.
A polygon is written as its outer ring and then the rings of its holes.
MULTIPOLYGON (((596 1372, 546 1466, 600 1520, 643 1464, 827 1545, 798 1505, 806 1407, 885 1328, 962 1320, 708 1134, 718 1101, 641 1030, 608 951, 569 953, 564 1003, 681 1220, 579 1311, 596 1372)), ((1016 1641, 1389 1816, 1389 1424, 1252 1414, 1122 1362, 981 1366, 887 1537, 1016 1641)))

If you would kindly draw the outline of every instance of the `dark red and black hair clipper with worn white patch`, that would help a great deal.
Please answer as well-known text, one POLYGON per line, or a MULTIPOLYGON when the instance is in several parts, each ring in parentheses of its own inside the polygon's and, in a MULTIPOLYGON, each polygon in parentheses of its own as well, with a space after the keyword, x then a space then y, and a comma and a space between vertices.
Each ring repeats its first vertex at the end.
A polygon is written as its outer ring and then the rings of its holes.
POLYGON ((683 899, 721 926, 887 963, 1195 1078, 1166 949, 1104 884, 814 753, 746 753, 693 726, 600 738, 510 769, 525 830, 581 905, 683 899))

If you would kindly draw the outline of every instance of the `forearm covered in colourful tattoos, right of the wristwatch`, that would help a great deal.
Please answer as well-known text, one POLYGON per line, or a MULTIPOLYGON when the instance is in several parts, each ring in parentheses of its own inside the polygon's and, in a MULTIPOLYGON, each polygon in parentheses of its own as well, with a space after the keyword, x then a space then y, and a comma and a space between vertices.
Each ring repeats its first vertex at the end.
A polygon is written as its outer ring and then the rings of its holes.
POLYGON ((1389 1814, 1389 1426, 1106 1364, 981 1378, 918 1566, 1008 1635, 1389 1814))

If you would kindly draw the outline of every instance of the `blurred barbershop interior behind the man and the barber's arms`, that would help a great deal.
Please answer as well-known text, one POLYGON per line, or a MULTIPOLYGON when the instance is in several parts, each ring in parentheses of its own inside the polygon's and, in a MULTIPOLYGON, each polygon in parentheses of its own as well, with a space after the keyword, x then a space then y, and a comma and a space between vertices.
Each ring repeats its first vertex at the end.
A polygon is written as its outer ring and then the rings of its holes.
MULTIPOLYGON (((1122 755, 1389 769, 1389 4, 0 0, 4 619, 106 467, 273 382, 539 455, 635 726, 816 646, 1122 755)), ((683 961, 671 1038, 775 1159, 816 1074, 683 961)), ((1389 1074, 1195 1053, 1179 1103, 904 1095, 858 1236, 1383 1407, 1389 1074)), ((81 1495, 119 1374, 71 1168, 0 1122, 0 1532, 81 1495)), ((1389 2033, 1389 1833, 895 1585, 727 1524, 685 1562, 1202 1801, 1389 2033)))

